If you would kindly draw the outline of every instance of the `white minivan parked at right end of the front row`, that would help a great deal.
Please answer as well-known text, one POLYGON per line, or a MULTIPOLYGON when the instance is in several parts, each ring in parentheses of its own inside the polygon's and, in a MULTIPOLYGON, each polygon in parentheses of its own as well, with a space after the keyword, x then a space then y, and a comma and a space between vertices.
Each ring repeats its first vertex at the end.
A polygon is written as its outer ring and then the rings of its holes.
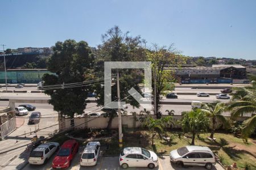
POLYGON ((170 160, 181 166, 197 165, 212 169, 215 156, 209 147, 205 146, 185 146, 170 152, 170 160))

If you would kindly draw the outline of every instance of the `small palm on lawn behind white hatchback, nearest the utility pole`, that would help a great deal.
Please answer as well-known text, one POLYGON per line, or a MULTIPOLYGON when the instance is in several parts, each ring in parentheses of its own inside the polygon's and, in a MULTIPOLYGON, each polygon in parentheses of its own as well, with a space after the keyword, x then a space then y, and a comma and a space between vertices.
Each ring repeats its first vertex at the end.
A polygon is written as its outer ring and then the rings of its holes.
POLYGON ((154 145, 155 129, 159 129, 161 132, 163 132, 162 120, 148 116, 146 121, 144 121, 144 126, 146 126, 152 133, 152 145, 154 145))

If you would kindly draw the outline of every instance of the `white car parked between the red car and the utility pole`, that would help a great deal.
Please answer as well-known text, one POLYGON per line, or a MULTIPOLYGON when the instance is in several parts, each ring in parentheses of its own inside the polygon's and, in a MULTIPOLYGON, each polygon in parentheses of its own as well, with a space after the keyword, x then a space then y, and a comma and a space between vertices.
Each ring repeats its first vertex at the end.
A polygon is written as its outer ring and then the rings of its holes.
POLYGON ((93 166, 97 164, 98 157, 100 155, 100 142, 89 142, 82 152, 80 159, 81 166, 93 166))

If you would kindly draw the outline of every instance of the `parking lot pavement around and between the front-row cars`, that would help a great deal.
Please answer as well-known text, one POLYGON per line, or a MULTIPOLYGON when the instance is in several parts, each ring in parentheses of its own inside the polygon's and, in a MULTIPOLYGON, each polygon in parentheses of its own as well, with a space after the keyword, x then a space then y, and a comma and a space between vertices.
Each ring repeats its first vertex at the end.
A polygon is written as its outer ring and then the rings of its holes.
MULTIPOLYGON (((79 164, 79 160, 81 157, 83 151, 83 147, 80 147, 79 149, 79 153, 76 154, 75 159, 72 160, 72 164, 69 168, 67 169, 71 169, 71 170, 77 170, 77 169, 112 169, 112 170, 117 170, 117 169, 122 169, 119 166, 119 157, 118 156, 100 156, 100 159, 98 159, 97 165, 93 166, 93 167, 80 167, 79 164)), ((38 169, 38 170, 44 170, 44 169, 52 169, 51 168, 51 163, 52 160, 54 158, 55 155, 52 155, 51 159, 48 160, 48 162, 45 165, 31 165, 31 164, 27 164, 26 167, 24 167, 23 169, 26 170, 34 170, 34 169, 38 169)), ((138 170, 142 170, 142 169, 148 169, 148 168, 128 168, 128 169, 138 169, 138 170)), ((204 167, 177 167, 177 165, 175 164, 171 164, 170 163, 170 158, 169 156, 160 156, 159 157, 159 165, 158 167, 155 167, 154 169, 159 169, 159 170, 166 170, 166 169, 175 169, 175 170, 183 170, 183 169, 196 169, 196 170, 200 170, 200 169, 205 169, 204 167)), ((224 170, 224 168, 221 167, 220 164, 216 164, 215 167, 212 168, 213 170, 224 170)))

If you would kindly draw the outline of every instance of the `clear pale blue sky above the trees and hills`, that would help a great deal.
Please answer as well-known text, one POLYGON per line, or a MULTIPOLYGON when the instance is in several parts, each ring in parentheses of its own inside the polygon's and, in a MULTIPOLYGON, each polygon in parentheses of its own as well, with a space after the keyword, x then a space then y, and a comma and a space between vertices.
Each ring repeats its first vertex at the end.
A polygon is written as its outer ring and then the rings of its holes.
POLYGON ((5 48, 49 47, 67 39, 97 46, 118 25, 149 48, 174 44, 185 56, 256 59, 254 0, 2 0, 0 9, 5 48))

